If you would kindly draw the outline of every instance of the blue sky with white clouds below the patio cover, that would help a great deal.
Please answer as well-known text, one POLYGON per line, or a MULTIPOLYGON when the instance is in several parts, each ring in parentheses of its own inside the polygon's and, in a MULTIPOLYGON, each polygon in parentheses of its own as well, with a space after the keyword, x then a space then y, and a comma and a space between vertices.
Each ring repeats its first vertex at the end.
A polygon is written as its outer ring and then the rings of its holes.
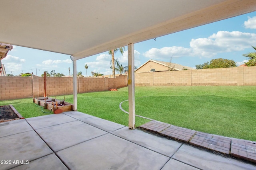
MULTIPOLYGON (((170 61, 184 66, 194 67, 212 59, 232 59, 237 65, 244 64, 246 57, 242 54, 253 52, 251 45, 256 46, 256 12, 244 14, 227 20, 202 25, 170 35, 136 43, 135 66, 139 67, 149 59, 170 61)), ((123 66, 128 65, 127 47, 122 56, 115 54, 123 66)), ((104 75, 112 74, 111 56, 108 52, 86 57, 77 61, 77 71, 86 76, 84 65, 88 65, 87 74, 91 71, 104 75)), ((55 70, 68 75, 72 74, 72 61, 69 55, 14 46, 6 58, 2 59, 7 74, 18 75, 33 72, 40 76, 44 70, 55 70)))

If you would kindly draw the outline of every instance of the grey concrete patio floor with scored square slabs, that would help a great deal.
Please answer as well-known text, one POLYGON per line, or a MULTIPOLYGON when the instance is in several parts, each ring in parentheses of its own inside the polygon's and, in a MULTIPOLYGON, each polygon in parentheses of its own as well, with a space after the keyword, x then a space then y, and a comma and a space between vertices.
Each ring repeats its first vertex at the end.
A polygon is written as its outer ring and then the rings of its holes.
POLYGON ((0 123, 0 170, 256 170, 78 111, 0 123))

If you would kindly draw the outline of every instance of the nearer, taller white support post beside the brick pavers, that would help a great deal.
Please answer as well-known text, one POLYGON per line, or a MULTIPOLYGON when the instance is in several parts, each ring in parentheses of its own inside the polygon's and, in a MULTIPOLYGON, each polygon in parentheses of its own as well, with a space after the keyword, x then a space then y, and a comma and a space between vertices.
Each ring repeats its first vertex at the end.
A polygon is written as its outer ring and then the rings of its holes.
POLYGON ((128 99, 130 129, 135 128, 134 44, 128 45, 128 99))

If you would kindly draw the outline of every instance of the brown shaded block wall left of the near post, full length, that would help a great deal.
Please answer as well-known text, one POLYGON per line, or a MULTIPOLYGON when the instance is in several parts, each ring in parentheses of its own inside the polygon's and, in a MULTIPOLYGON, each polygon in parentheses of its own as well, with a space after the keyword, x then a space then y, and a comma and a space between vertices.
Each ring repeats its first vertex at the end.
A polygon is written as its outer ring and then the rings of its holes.
MULTIPOLYGON (((98 92, 127 86, 127 75, 116 78, 77 78, 78 93, 98 92)), ((46 77, 46 96, 73 94, 72 77, 46 77)), ((44 78, 0 76, 0 100, 44 96, 44 78)))

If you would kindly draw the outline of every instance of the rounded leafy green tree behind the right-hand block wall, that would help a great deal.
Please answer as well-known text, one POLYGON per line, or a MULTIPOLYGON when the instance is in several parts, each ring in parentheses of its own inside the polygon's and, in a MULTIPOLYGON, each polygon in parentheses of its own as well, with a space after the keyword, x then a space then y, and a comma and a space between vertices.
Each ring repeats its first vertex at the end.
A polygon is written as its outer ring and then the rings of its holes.
POLYGON ((212 59, 210 64, 204 63, 196 65, 196 69, 207 69, 207 68, 229 68, 229 67, 236 67, 236 62, 234 60, 228 59, 212 59))

